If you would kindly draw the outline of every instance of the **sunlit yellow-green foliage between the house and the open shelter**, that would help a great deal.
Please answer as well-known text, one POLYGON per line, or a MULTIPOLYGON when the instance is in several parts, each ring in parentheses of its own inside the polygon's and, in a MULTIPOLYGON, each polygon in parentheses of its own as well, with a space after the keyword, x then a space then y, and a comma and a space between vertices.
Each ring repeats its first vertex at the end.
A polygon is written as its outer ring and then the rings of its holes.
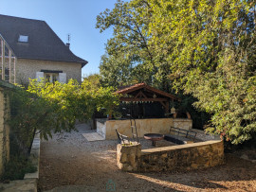
POLYGON ((113 95, 113 88, 101 87, 98 76, 83 79, 82 85, 74 79, 66 84, 31 79, 27 92, 46 101, 53 110, 48 116, 47 128, 41 129, 41 135, 45 138, 51 135, 50 131, 74 130, 77 119, 89 120, 101 108, 106 109, 106 113, 113 112, 119 100, 118 96, 113 95))

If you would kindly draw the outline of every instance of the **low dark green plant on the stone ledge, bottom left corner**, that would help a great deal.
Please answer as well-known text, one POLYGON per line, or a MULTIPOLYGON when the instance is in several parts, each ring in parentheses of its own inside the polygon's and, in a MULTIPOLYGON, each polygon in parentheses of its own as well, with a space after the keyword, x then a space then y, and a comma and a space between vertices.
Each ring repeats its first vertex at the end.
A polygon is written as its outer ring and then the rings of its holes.
POLYGON ((23 180, 26 173, 33 173, 35 171, 37 171, 37 168, 32 166, 31 162, 27 161, 25 157, 13 156, 10 157, 10 161, 5 166, 1 180, 23 180))

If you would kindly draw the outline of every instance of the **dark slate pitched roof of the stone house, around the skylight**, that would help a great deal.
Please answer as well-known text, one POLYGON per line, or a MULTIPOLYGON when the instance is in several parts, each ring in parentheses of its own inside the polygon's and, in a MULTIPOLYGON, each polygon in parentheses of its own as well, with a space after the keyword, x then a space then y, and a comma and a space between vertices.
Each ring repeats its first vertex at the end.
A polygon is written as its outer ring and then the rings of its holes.
POLYGON ((74 55, 45 21, 0 14, 0 34, 17 58, 46 61, 88 61, 74 55), (28 36, 27 43, 19 43, 20 35, 28 36))

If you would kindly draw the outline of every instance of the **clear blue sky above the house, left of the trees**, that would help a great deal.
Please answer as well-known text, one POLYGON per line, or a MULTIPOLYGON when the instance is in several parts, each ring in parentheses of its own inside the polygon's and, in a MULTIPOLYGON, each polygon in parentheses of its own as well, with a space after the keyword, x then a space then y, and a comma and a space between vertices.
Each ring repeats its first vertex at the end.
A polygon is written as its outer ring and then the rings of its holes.
POLYGON ((117 0, 0 0, 0 14, 46 21, 67 43, 71 51, 88 61, 82 76, 99 73, 101 55, 112 30, 103 33, 95 28, 96 18, 105 9, 113 9, 117 0))

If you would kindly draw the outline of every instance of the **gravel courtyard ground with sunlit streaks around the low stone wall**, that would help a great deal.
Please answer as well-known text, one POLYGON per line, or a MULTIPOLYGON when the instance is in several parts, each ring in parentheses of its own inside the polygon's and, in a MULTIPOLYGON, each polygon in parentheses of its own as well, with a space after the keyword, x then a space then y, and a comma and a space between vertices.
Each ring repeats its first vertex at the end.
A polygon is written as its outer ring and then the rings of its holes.
POLYGON ((116 166, 116 140, 88 142, 82 133, 93 131, 85 124, 77 129, 42 141, 39 191, 256 191, 256 164, 232 154, 226 165, 205 170, 127 173, 116 166))

